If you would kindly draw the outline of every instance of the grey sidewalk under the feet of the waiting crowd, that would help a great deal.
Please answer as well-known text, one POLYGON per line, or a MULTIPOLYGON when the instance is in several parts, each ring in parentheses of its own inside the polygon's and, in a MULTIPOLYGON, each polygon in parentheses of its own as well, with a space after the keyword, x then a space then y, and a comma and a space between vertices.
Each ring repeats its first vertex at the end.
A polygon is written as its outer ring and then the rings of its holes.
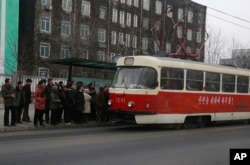
MULTIPOLYGON (((34 104, 30 104, 29 108, 29 116, 31 121, 33 121, 34 118, 34 104)), ((9 115, 10 116, 10 115, 9 115)), ((94 127, 98 126, 95 121, 88 122, 84 124, 71 124, 71 125, 65 125, 64 123, 58 124, 56 126, 52 126, 49 124, 45 124, 45 127, 39 127, 36 128, 33 125, 33 122, 22 122, 22 124, 16 124, 16 127, 5 127, 4 122, 4 105, 0 104, 0 133, 1 132, 13 132, 13 131, 28 131, 28 130, 46 130, 46 129, 60 129, 60 128, 80 128, 80 127, 94 127)))

